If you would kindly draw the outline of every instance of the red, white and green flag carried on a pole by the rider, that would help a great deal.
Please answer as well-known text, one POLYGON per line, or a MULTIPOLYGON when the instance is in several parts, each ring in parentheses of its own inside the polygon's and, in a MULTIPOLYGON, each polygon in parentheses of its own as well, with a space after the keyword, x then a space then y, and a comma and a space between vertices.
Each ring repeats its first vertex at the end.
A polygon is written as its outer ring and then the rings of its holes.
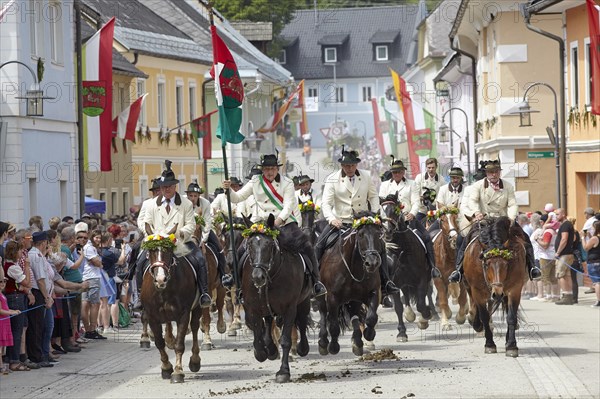
POLYGON ((215 96, 219 110, 217 137, 225 147, 225 143, 239 144, 244 140, 244 135, 240 133, 244 86, 231 52, 217 34, 217 27, 211 25, 210 32, 213 45, 213 67, 210 76, 215 80, 215 96))

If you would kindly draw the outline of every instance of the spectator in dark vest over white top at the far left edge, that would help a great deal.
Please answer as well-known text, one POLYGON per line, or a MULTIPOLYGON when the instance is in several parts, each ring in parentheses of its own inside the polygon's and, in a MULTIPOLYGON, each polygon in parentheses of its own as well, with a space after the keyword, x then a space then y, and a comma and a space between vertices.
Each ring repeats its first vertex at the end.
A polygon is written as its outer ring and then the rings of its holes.
MULTIPOLYGON (((19 312, 23 312, 27 308, 28 298, 32 302, 35 301, 31 293, 29 262, 25 262, 25 270, 17 263, 21 250, 22 246, 17 241, 10 241, 6 244, 6 260, 3 265, 4 275, 7 278, 5 294, 8 307, 19 312)), ((7 347, 6 355, 12 371, 29 370, 29 367, 23 364, 19 358, 25 321, 25 314, 18 314, 10 319, 13 345, 7 347)))

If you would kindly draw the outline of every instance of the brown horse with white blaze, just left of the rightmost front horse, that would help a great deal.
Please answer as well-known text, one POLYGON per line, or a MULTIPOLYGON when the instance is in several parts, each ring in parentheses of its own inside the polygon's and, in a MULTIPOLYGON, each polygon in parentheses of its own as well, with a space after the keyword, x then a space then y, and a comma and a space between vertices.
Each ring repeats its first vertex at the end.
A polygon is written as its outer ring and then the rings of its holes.
MULTIPOLYGON (((439 211, 439 232, 433 238, 435 263, 442 274, 441 278, 433 279, 437 289, 437 300, 442 313, 442 330, 447 331, 452 327, 448 321, 452 311, 448 306, 448 276, 455 270, 456 240, 458 237, 458 209, 456 207, 442 208, 439 211)), ((465 290, 452 293, 453 299, 458 301, 459 309, 456 323, 464 324, 467 313, 467 295, 465 290)))

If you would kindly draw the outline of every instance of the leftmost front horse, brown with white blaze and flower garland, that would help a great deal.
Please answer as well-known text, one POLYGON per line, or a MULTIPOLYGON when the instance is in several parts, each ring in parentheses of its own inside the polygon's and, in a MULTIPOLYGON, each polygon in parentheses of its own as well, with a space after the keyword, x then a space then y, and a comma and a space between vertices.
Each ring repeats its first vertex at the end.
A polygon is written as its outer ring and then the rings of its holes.
MULTIPOLYGON (((177 230, 175 226, 167 233, 167 237, 161 240, 172 241, 170 237, 177 230)), ((152 240, 153 233, 149 225, 146 225, 149 237, 152 240)), ((156 240, 158 241, 158 240, 156 240)), ((192 265, 184 256, 175 257, 173 250, 164 246, 148 249, 150 267, 145 271, 141 300, 144 305, 143 317, 150 325, 154 334, 156 348, 160 352, 161 376, 163 379, 171 379, 172 383, 184 381, 181 358, 185 351, 185 335, 188 325, 192 331, 192 356, 189 368, 192 372, 200 370, 200 348, 198 346, 198 329, 200 328, 200 316, 202 309, 198 304, 200 293, 196 285, 196 277, 192 265), (177 323, 177 337, 174 342, 175 369, 169 362, 169 356, 165 351, 165 339, 162 333, 162 323, 167 323, 167 331, 171 321, 177 323)), ((142 338, 148 338, 142 336, 142 338)))

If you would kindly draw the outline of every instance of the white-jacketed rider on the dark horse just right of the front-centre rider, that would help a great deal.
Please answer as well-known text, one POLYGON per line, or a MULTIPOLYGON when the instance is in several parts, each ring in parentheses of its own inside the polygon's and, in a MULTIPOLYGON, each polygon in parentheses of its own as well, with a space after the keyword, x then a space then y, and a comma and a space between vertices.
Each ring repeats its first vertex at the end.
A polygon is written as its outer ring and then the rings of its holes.
POLYGON ((427 263, 431 267, 431 276, 433 278, 441 277, 440 270, 435 266, 435 255, 433 252, 433 243, 431 237, 425 230, 425 227, 421 222, 417 220, 417 213, 419 210, 419 188, 412 180, 408 180, 404 177, 406 173, 406 167, 401 160, 394 160, 392 157, 392 163, 390 165, 390 172, 392 172, 392 178, 388 181, 381 183, 379 187, 379 197, 385 198, 388 195, 398 195, 398 201, 404 208, 407 209, 405 216, 410 228, 419 236, 421 241, 425 244, 427 263))

